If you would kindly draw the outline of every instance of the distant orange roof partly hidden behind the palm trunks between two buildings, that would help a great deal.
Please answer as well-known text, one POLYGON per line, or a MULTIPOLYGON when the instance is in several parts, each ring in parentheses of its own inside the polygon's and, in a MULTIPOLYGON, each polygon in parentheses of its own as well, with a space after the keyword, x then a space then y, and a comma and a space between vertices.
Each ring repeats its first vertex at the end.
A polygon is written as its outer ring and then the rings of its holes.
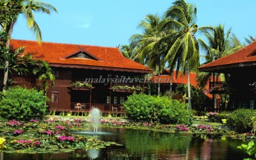
MULTIPOLYGON (((170 71, 165 69, 164 72, 166 73, 169 73, 170 74, 170 71)), ((176 83, 176 84, 187 84, 187 79, 188 79, 188 76, 187 74, 185 75, 181 75, 180 72, 178 72, 178 76, 176 78, 176 70, 173 71, 173 82, 172 83, 176 83)), ((170 75, 161 75, 160 76, 161 80, 160 80, 160 83, 161 84, 170 84, 170 79, 171 79, 171 76, 170 75)), ((212 76, 211 76, 211 79, 212 79, 212 76)), ((190 80, 190 84, 196 88, 199 88, 198 85, 197 85, 197 81, 196 81, 196 74, 195 73, 190 73, 189 74, 189 80, 190 80)), ((153 81, 155 83, 158 82, 158 76, 154 76, 153 77, 153 81)), ((219 79, 220 81, 220 79, 219 79)), ((209 90, 209 81, 207 82, 207 84, 205 85, 205 90, 209 90)), ((207 97, 209 97, 210 99, 212 99, 212 94, 210 93, 205 93, 205 95, 207 95, 207 97)), ((219 99, 220 96, 218 95, 217 98, 219 99)))

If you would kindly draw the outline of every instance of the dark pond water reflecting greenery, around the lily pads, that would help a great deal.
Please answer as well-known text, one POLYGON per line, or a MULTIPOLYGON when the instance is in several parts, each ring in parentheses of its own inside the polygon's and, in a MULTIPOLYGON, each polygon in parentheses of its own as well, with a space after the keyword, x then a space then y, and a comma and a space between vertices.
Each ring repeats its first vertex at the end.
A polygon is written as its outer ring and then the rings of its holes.
POLYGON ((122 146, 100 150, 76 150, 61 154, 7 154, 2 159, 243 159, 237 149, 244 143, 225 136, 173 134, 149 130, 104 128, 99 139, 115 141, 122 146))

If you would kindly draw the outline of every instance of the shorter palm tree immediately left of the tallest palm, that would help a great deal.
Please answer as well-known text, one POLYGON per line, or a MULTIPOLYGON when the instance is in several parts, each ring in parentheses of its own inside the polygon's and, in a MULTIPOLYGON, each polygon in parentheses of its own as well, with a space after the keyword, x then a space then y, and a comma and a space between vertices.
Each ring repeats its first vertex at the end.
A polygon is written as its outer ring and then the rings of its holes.
POLYGON ((166 53, 166 44, 157 44, 163 38, 164 31, 159 30, 159 24, 162 22, 159 15, 149 14, 139 24, 143 29, 143 34, 133 35, 131 44, 136 46, 134 58, 138 58, 140 63, 145 63, 158 74, 158 92, 160 95, 160 74, 164 68, 164 54, 166 53))

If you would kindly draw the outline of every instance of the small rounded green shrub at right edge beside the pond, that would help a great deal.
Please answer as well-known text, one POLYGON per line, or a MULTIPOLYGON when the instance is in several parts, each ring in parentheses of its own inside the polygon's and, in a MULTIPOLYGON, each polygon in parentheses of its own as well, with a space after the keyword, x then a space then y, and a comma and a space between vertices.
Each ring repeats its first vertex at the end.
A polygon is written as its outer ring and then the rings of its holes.
POLYGON ((227 124, 237 132, 248 132, 252 130, 253 116, 256 116, 253 109, 237 109, 228 115, 227 124))

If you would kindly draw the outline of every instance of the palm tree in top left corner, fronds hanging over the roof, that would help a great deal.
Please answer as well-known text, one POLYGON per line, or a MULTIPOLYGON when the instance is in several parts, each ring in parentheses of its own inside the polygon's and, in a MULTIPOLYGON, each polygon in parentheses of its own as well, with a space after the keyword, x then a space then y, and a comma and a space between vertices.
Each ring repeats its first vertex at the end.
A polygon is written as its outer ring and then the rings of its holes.
MULTIPOLYGON (((42 33, 41 30, 34 19, 33 12, 41 12, 47 13, 48 15, 51 14, 51 11, 57 12, 56 8, 51 4, 44 3, 42 1, 36 0, 5 0, 6 3, 15 3, 18 8, 21 8, 20 12, 13 14, 12 20, 5 22, 3 24, 2 30, 8 33, 9 39, 6 41, 6 47, 9 47, 10 44, 10 37, 12 36, 13 26, 20 14, 24 15, 25 19, 27 20, 28 28, 36 35, 36 39, 38 42, 42 42, 42 33)), ((8 79, 8 61, 6 61, 6 71, 4 72, 4 82, 6 84, 8 79)))

